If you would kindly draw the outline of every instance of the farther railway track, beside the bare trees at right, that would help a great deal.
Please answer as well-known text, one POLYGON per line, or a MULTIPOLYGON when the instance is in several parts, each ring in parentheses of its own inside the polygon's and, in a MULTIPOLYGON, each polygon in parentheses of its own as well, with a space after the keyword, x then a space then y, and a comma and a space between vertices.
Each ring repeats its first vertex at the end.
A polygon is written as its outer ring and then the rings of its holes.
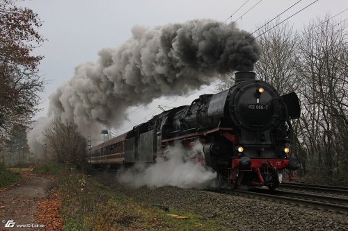
POLYGON ((325 194, 341 194, 344 196, 348 196, 347 187, 334 187, 334 186, 326 186, 326 185, 309 185, 309 184, 301 184, 301 183, 282 182, 280 184, 280 189, 316 191, 316 192, 321 192, 325 194))

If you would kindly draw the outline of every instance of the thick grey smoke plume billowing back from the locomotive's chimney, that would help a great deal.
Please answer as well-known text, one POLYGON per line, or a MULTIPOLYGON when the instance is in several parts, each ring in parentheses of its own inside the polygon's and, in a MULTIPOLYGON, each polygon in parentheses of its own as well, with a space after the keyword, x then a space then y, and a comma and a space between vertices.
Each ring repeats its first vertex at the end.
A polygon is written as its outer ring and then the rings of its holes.
MULTIPOLYGON (((127 42, 98 54, 97 62, 76 67, 68 83, 49 97, 48 117, 41 126, 61 117, 84 134, 90 126, 100 133, 101 123, 117 128, 131 106, 187 94, 231 71, 251 71, 260 49, 250 33, 202 19, 156 28, 134 26, 127 42)), ((40 142, 41 133, 29 135, 29 146, 40 142)))

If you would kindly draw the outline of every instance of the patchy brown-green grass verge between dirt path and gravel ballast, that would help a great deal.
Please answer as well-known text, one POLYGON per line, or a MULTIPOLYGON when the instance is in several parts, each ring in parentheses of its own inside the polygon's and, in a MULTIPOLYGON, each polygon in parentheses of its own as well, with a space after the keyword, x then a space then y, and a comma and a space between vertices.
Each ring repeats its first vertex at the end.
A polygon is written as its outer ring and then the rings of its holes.
POLYGON ((214 221, 171 208, 171 214, 189 216, 175 219, 86 175, 65 176, 60 191, 65 230, 226 230, 214 221))

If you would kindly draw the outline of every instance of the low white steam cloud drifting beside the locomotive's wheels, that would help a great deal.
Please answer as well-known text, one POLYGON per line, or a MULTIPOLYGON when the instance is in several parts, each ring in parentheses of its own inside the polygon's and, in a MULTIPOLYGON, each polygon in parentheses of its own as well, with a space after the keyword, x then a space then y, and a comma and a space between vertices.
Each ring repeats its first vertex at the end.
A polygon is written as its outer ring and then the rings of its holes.
POLYGON ((120 173, 118 180, 133 187, 175 186, 205 189, 216 186, 217 173, 200 163, 204 160, 203 146, 199 142, 187 150, 180 144, 168 148, 155 164, 136 166, 120 173))

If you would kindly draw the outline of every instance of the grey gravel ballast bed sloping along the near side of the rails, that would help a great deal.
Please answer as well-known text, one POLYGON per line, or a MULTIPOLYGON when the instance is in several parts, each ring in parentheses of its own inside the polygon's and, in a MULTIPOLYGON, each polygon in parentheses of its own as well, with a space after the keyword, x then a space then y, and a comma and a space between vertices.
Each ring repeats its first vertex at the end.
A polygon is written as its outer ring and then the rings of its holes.
POLYGON ((93 178, 136 200, 214 219, 226 230, 348 230, 347 214, 198 189, 136 189, 118 182, 116 173, 97 173, 93 178))

